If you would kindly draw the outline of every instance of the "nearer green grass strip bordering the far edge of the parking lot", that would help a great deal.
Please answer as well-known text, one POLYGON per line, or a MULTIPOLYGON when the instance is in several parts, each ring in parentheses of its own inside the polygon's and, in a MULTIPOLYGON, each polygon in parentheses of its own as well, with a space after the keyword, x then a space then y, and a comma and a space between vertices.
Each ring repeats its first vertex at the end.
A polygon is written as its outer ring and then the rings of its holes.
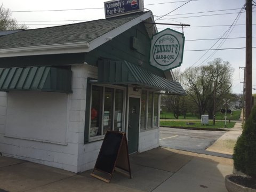
MULTIPOLYGON (((233 128, 235 122, 228 123, 227 128, 233 128)), ((225 127, 225 121, 215 121, 215 125, 213 125, 213 121, 209 121, 209 125, 201 125, 201 121, 160 121, 160 126, 177 126, 177 127, 197 127, 197 128, 212 128, 212 129, 221 129, 225 127), (186 123, 195 123, 194 125, 187 125, 186 123)))

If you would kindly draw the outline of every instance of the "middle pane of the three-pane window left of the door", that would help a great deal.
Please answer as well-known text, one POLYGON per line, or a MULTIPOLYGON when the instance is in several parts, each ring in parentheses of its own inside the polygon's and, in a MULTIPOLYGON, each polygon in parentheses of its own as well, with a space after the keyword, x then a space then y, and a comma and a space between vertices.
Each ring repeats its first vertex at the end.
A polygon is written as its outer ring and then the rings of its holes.
POLYGON ((108 130, 112 130, 113 97, 114 97, 114 89, 105 87, 103 134, 106 134, 108 130))

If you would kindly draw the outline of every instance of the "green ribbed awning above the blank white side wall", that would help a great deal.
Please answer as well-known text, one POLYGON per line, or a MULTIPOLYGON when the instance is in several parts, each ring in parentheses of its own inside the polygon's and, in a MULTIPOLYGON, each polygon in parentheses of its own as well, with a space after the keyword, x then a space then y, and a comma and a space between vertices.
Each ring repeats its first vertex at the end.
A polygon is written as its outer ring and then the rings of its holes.
POLYGON ((0 91, 71 93, 71 70, 54 67, 0 69, 0 91))

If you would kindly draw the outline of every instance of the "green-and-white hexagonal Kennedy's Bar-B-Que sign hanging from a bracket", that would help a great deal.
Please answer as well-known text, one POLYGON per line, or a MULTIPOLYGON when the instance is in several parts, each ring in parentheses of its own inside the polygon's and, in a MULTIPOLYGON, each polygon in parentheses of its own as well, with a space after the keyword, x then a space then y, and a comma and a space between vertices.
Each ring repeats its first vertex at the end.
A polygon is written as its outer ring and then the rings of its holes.
POLYGON ((161 70, 179 67, 182 63, 185 37, 172 29, 153 36, 150 48, 150 65, 161 70))

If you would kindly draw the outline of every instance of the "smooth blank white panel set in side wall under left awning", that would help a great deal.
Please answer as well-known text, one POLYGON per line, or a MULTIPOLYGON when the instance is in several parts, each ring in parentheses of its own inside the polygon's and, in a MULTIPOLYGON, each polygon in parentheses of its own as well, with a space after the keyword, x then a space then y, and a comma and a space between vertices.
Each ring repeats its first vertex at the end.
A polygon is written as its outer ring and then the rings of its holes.
POLYGON ((66 145, 67 102, 63 93, 10 91, 5 136, 66 145))

